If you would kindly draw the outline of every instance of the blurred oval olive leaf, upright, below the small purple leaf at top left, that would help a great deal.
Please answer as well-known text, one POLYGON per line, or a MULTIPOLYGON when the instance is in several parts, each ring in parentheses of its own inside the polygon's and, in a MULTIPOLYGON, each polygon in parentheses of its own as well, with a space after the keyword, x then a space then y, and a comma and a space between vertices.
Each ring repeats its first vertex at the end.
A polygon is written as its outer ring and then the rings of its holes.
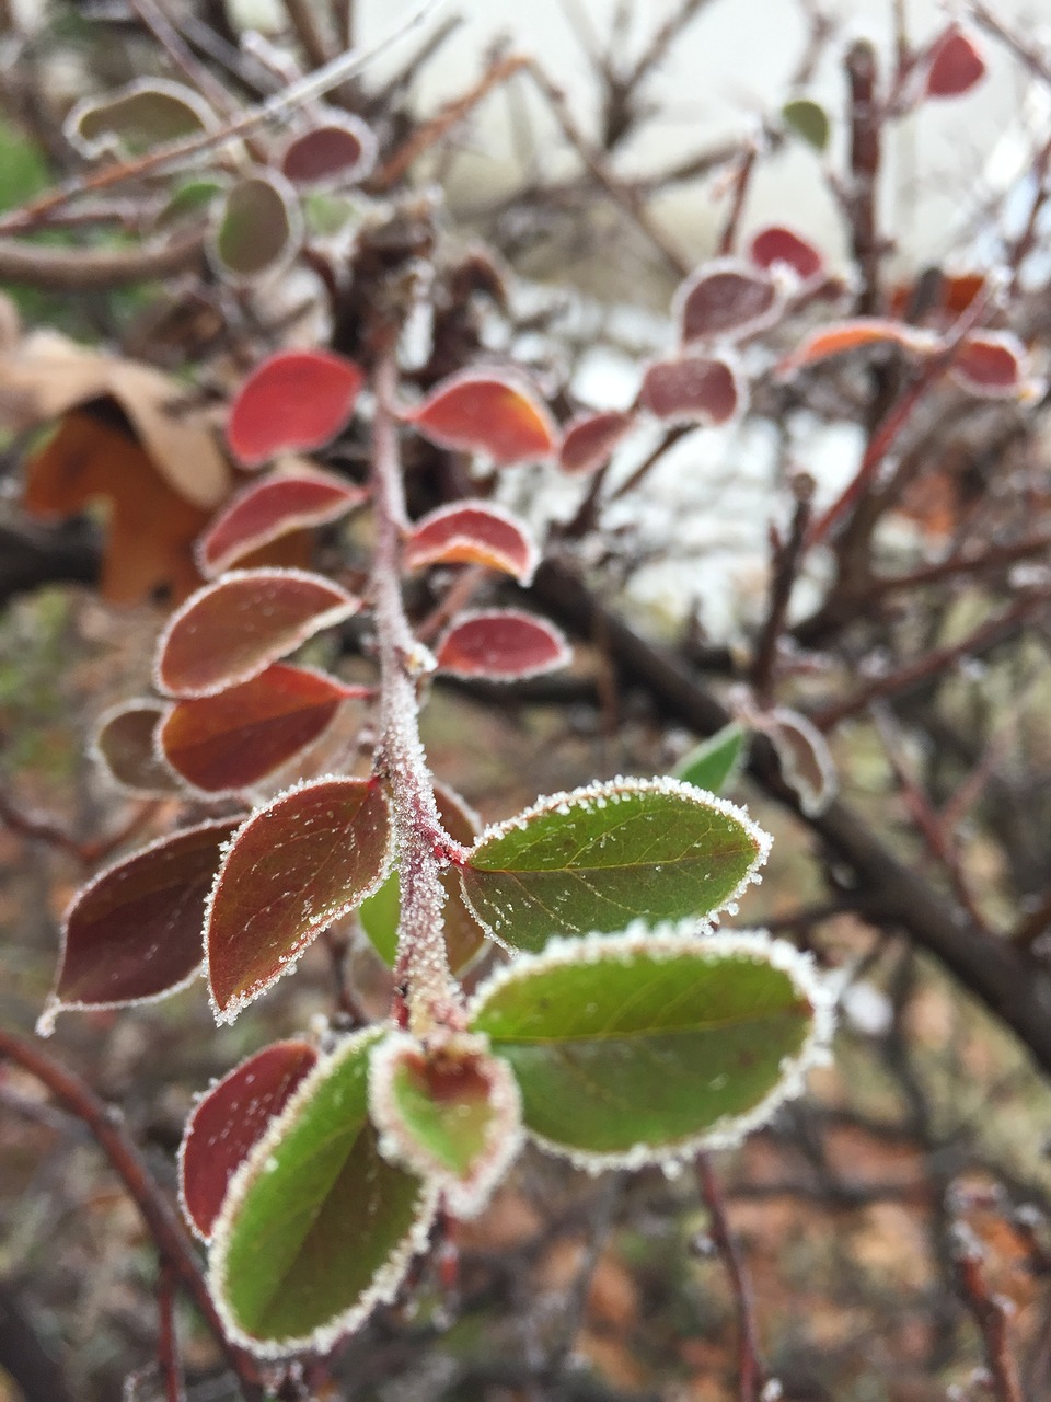
POLYGON ((303 243, 303 210, 296 191, 277 171, 242 175, 216 205, 212 259, 234 283, 273 278, 303 243))

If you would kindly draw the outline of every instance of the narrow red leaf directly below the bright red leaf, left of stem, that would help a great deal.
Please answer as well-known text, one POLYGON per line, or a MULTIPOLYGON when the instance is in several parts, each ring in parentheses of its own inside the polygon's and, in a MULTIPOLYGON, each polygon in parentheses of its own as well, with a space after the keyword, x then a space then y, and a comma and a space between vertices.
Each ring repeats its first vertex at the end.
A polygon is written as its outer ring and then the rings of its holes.
POLYGON ((367 501, 362 486, 328 472, 275 474, 238 492, 198 538, 198 568, 214 579, 234 561, 272 540, 338 520, 367 501))

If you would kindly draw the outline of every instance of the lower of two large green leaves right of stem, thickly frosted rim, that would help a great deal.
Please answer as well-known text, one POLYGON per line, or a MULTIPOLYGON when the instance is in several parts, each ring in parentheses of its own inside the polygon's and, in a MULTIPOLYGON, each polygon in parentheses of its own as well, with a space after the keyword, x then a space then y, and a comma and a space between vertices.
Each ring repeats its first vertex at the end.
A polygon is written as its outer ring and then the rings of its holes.
POLYGON ((831 1036, 809 956, 767 934, 629 931, 552 941, 468 1008, 511 1064, 523 1123, 579 1168, 736 1144, 803 1089, 831 1036))

